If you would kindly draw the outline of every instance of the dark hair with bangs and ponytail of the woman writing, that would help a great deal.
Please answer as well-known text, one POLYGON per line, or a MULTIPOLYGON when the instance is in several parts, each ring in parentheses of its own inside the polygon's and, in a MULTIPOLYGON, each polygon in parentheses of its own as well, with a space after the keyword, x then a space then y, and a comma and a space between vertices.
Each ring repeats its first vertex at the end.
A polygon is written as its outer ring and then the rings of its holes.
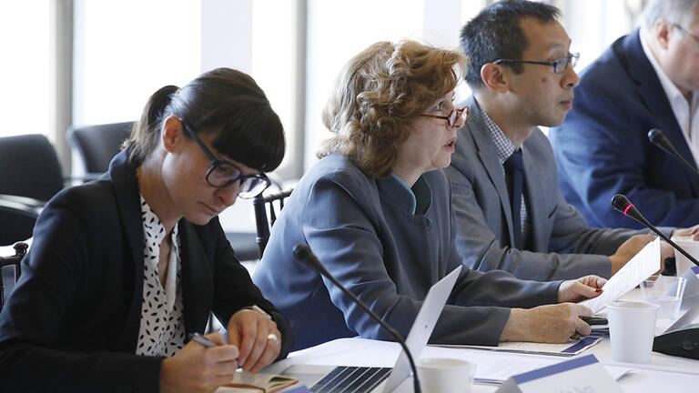
POLYGON ((140 166, 153 153, 163 121, 172 115, 197 134, 214 134, 219 153, 260 172, 276 169, 284 157, 279 116, 255 80, 238 70, 217 68, 181 89, 164 86, 150 96, 123 146, 130 163, 140 166))

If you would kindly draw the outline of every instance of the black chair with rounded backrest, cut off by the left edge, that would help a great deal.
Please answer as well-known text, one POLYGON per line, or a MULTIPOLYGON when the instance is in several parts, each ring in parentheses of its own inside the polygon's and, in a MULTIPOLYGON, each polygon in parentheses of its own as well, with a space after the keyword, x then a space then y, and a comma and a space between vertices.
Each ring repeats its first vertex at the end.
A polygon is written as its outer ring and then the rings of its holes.
MULTIPOLYGON (((43 135, 0 137, 0 194, 48 201, 63 188, 54 146, 43 135)), ((35 217, 0 209, 0 246, 32 237, 35 217)))

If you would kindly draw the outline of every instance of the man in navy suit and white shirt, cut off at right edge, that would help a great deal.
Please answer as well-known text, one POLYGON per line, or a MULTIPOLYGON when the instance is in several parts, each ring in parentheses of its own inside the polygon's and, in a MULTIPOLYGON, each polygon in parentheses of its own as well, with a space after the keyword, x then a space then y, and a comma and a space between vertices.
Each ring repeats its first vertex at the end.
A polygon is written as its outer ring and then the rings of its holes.
POLYGON ((659 128, 686 161, 699 161, 699 7, 653 0, 640 30, 581 75, 575 105, 550 137, 563 196, 593 227, 642 227, 613 212, 622 193, 656 226, 699 222, 699 176, 648 140, 659 128))

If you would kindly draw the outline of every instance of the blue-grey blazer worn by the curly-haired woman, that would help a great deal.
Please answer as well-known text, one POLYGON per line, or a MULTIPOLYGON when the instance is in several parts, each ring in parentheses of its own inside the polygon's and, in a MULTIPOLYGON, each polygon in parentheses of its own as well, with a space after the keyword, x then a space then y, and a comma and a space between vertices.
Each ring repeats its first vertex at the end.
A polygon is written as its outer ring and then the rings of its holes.
MULTIPOLYGON (((294 349, 357 335, 392 339, 338 287, 292 257, 298 243, 308 243, 339 282, 408 335, 431 285, 461 264, 447 176, 432 171, 413 189, 419 186, 431 196, 424 215, 413 213, 410 191, 398 180, 367 176, 344 156, 326 156, 301 178, 253 277, 289 319, 294 349)), ((496 345, 508 307, 555 303, 559 285, 463 269, 431 342, 496 345)))

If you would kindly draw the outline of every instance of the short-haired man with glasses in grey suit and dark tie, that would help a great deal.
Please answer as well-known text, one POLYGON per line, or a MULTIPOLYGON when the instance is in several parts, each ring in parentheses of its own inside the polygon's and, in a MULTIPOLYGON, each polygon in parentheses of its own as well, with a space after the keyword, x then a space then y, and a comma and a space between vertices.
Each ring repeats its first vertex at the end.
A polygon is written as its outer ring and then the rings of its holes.
POLYGON ((562 123, 578 85, 578 54, 559 15, 552 5, 501 1, 461 32, 473 96, 446 171, 457 247, 473 269, 540 281, 610 277, 653 238, 587 227, 558 190, 552 149, 538 126, 562 123))

